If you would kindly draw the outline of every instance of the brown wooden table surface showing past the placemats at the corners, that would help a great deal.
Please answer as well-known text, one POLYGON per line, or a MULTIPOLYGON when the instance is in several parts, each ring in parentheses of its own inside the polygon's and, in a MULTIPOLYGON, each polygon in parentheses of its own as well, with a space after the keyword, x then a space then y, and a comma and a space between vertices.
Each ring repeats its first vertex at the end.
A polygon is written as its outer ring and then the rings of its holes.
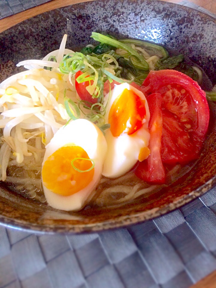
MULTIPOLYGON (((85 1, 93 1, 93 0, 85 0, 85 1)), ((167 1, 167 2, 173 2, 173 3, 182 2, 182 0, 161 0, 161 1, 167 1)), ((216 0, 189 0, 189 1, 216 14, 216 0)), ((40 6, 31 8, 23 12, 20 12, 13 16, 6 17, 0 20, 0 32, 10 28, 13 25, 16 25, 17 23, 25 19, 38 15, 42 12, 64 7, 64 6, 71 5, 71 4, 80 3, 80 2, 83 2, 83 0, 64 0, 64 1, 52 0, 48 3, 42 4, 40 6)), ((204 279, 200 280, 198 283, 191 286, 190 288, 216 288, 216 271, 214 271, 213 273, 211 273, 204 279)))

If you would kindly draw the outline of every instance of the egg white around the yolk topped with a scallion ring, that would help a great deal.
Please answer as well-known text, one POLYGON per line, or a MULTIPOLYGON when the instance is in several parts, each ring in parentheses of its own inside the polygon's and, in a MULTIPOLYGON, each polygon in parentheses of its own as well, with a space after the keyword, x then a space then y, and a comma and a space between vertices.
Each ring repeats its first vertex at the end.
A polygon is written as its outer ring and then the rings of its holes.
POLYGON ((88 120, 77 119, 60 128, 46 146, 42 169, 50 155, 59 148, 70 144, 82 147, 89 158, 94 160, 95 173, 91 183, 70 196, 53 193, 45 187, 42 179, 47 203, 53 208, 64 211, 80 210, 87 200, 89 201, 92 198, 94 195, 93 191, 101 178, 103 162, 107 152, 107 143, 101 130, 88 120))

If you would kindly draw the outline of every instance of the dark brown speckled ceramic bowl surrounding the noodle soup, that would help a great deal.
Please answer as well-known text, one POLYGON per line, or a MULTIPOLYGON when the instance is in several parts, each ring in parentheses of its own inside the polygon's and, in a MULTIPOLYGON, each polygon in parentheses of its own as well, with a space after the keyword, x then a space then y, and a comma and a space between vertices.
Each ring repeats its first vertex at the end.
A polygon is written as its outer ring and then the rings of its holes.
MULTIPOLYGON (((64 33, 68 34, 67 48, 76 49, 89 43, 92 31, 162 44, 187 55, 216 83, 215 19, 188 7, 157 0, 94 1, 35 16, 0 34, 0 64, 39 59, 58 49, 64 33)), ((2 183, 0 222, 45 232, 99 231, 157 217, 202 195, 216 182, 216 107, 214 103, 209 105, 211 124, 202 155, 193 170, 171 186, 121 208, 75 213, 26 199, 2 183)))

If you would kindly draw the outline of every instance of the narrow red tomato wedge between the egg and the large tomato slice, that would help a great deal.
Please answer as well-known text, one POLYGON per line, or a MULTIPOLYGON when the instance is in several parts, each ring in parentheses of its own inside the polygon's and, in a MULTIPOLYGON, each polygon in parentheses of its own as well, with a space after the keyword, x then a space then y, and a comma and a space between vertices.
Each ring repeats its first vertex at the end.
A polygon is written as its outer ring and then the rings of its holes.
POLYGON ((140 162, 135 170, 135 174, 146 182, 165 183, 165 170, 161 161, 161 136, 162 136, 162 111, 161 94, 154 93, 147 98, 150 111, 149 120, 149 157, 140 162))

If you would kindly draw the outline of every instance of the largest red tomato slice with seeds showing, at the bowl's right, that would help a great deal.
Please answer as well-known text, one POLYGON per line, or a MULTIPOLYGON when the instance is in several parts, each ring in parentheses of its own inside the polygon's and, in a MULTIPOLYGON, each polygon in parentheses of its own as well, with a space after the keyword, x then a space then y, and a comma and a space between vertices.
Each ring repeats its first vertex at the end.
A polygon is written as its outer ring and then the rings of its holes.
POLYGON ((150 71, 143 86, 148 95, 155 92, 162 95, 163 163, 197 159, 209 122, 205 92, 197 82, 176 70, 150 71))

